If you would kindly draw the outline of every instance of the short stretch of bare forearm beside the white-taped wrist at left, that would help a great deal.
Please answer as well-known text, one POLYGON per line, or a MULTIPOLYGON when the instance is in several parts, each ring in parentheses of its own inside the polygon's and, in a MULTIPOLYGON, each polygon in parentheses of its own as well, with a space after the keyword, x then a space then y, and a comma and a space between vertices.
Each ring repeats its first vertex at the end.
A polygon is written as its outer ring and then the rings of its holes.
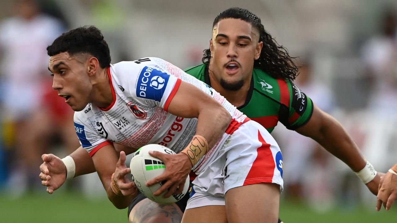
POLYGON ((77 148, 77 150, 72 152, 69 156, 73 158, 76 165, 75 177, 94 173, 96 171, 90 154, 82 146, 77 148))

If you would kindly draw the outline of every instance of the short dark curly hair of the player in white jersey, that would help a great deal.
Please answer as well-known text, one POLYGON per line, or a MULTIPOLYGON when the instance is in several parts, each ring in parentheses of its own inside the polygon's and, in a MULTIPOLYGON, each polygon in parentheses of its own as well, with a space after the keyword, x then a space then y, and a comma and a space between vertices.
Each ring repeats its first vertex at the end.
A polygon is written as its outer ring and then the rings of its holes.
POLYGON ((68 52, 70 56, 79 53, 88 53, 98 59, 102 68, 110 64, 109 46, 101 31, 94 26, 84 26, 63 33, 47 47, 48 56, 68 52))

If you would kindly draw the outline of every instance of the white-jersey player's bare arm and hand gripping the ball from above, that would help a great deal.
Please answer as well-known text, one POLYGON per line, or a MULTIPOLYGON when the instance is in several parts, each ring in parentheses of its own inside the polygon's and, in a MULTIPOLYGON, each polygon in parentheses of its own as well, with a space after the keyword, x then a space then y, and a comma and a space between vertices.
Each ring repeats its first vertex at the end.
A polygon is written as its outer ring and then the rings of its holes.
MULTIPOLYGON (((194 85, 183 81, 168 106, 168 112, 179 117, 198 118, 196 136, 203 137, 208 144, 201 152, 195 150, 195 156, 197 157, 193 157, 193 159, 186 154, 182 154, 183 152, 175 155, 158 152, 151 154, 163 160, 167 168, 164 174, 149 180, 146 185, 150 186, 167 180, 160 189, 153 193, 158 196, 169 188, 164 197, 182 192, 185 179, 195 160, 204 156, 208 148, 215 145, 231 121, 230 113, 221 104, 194 85), (173 156, 172 159, 170 156, 173 156), (170 165, 167 165, 167 163, 170 165)), ((191 146, 195 147, 198 141, 202 142, 200 137, 193 137, 193 140, 183 151, 191 150, 191 146)))

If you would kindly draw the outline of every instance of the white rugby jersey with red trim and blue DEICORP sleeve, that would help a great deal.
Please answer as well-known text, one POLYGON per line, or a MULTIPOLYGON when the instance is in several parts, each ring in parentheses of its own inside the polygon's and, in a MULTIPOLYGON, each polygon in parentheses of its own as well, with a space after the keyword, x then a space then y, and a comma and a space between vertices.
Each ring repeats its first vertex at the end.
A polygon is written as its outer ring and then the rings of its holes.
MULTIPOLYGON (((214 148, 222 147, 225 139, 249 120, 204 82, 160 58, 119 62, 110 65, 108 75, 112 104, 106 109, 88 104, 74 115, 77 136, 91 156, 111 142, 132 148, 161 144, 176 153, 183 150, 195 135, 197 118, 177 117, 167 112, 181 81, 211 95, 232 116, 232 122, 214 148)), ((212 160, 214 148, 202 158, 204 161, 212 160)))

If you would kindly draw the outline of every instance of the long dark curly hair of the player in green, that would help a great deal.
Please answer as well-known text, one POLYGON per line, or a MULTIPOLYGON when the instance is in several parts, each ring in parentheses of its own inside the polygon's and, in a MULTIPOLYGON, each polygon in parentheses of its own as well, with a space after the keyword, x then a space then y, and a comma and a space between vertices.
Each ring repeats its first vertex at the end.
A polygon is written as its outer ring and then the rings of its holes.
MULTIPOLYGON (((246 9, 229 8, 215 18, 212 28, 220 20, 227 18, 241 19, 258 29, 260 34, 259 42, 263 42, 263 47, 259 59, 254 62, 254 67, 262 69, 274 78, 295 79, 299 69, 299 66, 294 62, 296 57, 289 56, 287 49, 278 45, 276 40, 266 32, 258 16, 246 9)), ((211 58, 211 51, 210 49, 206 49, 203 52, 202 62, 208 65, 211 58)))

